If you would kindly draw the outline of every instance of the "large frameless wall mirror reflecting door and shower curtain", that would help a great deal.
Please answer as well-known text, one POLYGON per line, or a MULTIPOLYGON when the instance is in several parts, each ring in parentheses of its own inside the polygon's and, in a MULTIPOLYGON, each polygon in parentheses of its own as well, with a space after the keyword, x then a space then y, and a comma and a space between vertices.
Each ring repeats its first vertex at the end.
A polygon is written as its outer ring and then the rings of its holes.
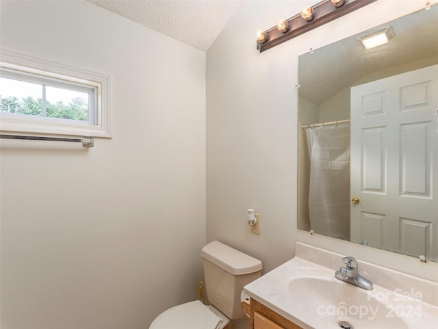
POLYGON ((437 31, 432 5, 299 57, 298 229, 438 261, 437 31))

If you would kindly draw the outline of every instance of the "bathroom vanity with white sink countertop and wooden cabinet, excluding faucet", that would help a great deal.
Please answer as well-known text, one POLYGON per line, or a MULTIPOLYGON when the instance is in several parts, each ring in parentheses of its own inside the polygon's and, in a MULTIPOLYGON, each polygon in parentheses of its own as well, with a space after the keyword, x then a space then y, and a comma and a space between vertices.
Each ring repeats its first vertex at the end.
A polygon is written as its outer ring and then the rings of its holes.
POLYGON ((344 256, 296 243, 295 258, 244 287, 250 329, 436 329, 438 282, 359 260, 363 289, 335 278, 344 256))

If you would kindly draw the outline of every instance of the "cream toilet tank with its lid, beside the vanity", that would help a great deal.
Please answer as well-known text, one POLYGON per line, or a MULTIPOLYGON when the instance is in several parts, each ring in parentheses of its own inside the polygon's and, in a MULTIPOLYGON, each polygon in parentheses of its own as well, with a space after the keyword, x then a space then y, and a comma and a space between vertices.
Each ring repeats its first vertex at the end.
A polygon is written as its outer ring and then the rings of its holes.
POLYGON ((219 241, 203 247, 205 288, 209 302, 229 319, 240 319, 244 286, 261 276, 261 261, 219 241))

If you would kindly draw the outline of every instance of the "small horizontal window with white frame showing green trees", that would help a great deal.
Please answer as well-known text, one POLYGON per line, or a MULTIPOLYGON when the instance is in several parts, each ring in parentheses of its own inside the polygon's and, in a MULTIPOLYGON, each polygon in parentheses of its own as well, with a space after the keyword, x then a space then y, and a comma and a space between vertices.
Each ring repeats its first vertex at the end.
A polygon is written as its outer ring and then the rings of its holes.
POLYGON ((111 137, 110 77, 1 51, 1 132, 111 137))

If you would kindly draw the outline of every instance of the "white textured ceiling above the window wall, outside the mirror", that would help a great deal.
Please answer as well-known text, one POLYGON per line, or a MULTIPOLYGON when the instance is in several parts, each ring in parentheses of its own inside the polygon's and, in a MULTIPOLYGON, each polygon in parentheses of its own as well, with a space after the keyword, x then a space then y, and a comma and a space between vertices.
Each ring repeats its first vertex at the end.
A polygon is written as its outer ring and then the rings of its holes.
POLYGON ((207 51, 241 0, 88 0, 207 51))

